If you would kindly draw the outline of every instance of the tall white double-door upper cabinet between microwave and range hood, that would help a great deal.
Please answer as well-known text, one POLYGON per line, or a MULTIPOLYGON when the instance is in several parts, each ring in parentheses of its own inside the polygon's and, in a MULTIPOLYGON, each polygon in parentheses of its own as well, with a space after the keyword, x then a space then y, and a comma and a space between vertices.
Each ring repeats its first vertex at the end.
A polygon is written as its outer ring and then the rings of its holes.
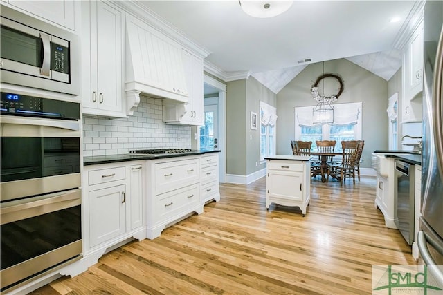
POLYGON ((83 113, 126 117, 123 110, 123 33, 121 10, 104 1, 82 4, 83 113), (90 18, 89 18, 90 17, 90 18))

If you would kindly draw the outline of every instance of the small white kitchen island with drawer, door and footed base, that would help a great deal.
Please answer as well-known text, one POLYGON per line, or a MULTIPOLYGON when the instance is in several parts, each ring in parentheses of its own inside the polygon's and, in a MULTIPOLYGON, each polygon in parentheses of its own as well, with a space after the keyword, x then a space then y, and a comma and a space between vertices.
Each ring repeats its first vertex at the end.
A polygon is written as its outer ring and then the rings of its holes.
POLYGON ((266 209, 271 203, 296 206, 306 214, 311 200, 311 156, 272 155, 266 159, 266 209))

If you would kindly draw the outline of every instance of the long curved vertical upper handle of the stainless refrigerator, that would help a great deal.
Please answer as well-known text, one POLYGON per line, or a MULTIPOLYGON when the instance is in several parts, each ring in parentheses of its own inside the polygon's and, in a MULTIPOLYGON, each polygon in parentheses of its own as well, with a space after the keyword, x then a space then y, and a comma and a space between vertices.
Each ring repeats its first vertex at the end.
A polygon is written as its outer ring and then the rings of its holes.
POLYGON ((437 155, 437 166, 440 171, 440 175, 443 175, 443 110, 442 110, 442 76, 443 76, 443 27, 440 31, 440 40, 437 46, 437 55, 435 57, 435 70, 434 70, 434 84, 433 84, 433 110, 435 116, 433 116, 433 129, 435 138, 435 153, 437 155))

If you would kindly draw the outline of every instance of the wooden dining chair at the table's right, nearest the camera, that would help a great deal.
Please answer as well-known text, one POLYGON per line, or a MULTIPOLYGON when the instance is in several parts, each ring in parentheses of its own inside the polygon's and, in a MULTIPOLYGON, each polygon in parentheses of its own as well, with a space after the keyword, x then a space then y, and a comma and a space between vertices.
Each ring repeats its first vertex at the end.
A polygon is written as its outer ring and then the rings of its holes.
POLYGON ((358 158, 359 146, 361 140, 343 140, 341 147, 343 149, 341 163, 331 163, 328 166, 327 182, 329 175, 340 180, 340 185, 346 180, 346 177, 352 178, 355 184, 356 159, 358 158))

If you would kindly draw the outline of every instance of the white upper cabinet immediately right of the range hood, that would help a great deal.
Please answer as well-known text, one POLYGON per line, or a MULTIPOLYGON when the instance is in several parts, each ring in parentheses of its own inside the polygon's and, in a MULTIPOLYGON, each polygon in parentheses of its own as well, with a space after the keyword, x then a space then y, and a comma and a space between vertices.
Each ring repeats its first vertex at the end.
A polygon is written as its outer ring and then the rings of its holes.
POLYGON ((203 126, 203 59, 182 50, 186 86, 189 93, 188 104, 163 102, 163 122, 166 124, 183 124, 203 126), (182 112, 180 111, 182 110, 182 112), (183 114, 183 112, 185 112, 183 114))

